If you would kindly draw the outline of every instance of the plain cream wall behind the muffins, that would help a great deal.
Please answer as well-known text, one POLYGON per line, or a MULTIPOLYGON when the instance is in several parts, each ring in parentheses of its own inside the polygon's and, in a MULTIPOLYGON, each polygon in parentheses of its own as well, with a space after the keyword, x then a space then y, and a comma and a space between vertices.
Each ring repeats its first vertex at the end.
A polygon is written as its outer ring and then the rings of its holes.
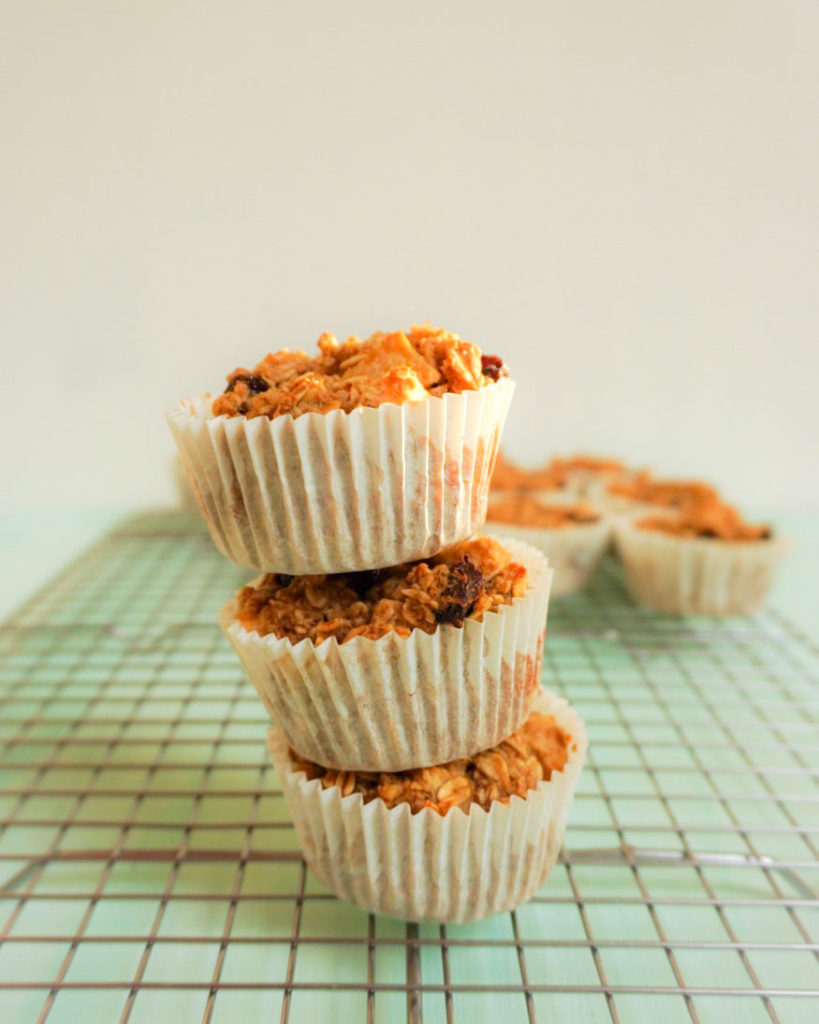
POLYGON ((175 398, 429 318, 522 461, 819 505, 813 0, 1 9, 3 501, 167 500, 175 398))

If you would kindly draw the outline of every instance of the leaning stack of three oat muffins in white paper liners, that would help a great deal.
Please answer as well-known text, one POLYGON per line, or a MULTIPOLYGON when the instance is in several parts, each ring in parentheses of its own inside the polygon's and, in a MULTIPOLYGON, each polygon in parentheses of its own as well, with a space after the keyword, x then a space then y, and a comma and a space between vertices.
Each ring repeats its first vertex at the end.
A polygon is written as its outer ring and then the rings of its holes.
POLYGON ((264 573, 220 623, 305 858, 407 920, 526 900, 586 755, 540 686, 549 563, 477 534, 513 390, 502 359, 424 327, 324 335, 169 414, 214 542, 264 573))

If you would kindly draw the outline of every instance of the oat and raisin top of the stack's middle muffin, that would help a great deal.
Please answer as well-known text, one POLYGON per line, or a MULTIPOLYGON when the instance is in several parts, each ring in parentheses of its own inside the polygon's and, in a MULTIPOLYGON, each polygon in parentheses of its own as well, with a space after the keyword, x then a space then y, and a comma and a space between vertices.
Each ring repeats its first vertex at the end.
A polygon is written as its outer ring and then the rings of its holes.
POLYGON ((337 575, 270 572, 238 595, 236 617, 247 630, 298 643, 387 633, 434 633, 442 623, 463 626, 527 587, 526 569, 497 541, 473 538, 422 562, 337 575))

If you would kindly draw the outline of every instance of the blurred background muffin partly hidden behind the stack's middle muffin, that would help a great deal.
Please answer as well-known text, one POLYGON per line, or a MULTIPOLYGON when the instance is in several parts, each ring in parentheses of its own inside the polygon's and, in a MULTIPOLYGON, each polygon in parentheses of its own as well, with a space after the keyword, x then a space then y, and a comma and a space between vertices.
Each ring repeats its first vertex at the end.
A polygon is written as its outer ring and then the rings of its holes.
POLYGON ((488 528, 531 544, 554 571, 552 596, 574 594, 592 578, 611 538, 610 520, 585 502, 529 494, 490 497, 488 528))

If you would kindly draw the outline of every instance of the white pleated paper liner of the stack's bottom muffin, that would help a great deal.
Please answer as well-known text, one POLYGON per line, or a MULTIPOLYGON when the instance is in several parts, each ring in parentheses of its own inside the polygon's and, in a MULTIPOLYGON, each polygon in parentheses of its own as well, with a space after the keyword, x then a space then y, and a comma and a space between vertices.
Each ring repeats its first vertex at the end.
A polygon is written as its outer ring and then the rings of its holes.
POLYGON ((443 816, 324 790, 292 770, 288 742, 271 728, 268 749, 311 870, 342 899, 406 921, 474 921, 525 902, 557 859, 588 745, 583 721, 561 697, 544 690, 535 710, 571 736, 563 770, 525 800, 443 816))

